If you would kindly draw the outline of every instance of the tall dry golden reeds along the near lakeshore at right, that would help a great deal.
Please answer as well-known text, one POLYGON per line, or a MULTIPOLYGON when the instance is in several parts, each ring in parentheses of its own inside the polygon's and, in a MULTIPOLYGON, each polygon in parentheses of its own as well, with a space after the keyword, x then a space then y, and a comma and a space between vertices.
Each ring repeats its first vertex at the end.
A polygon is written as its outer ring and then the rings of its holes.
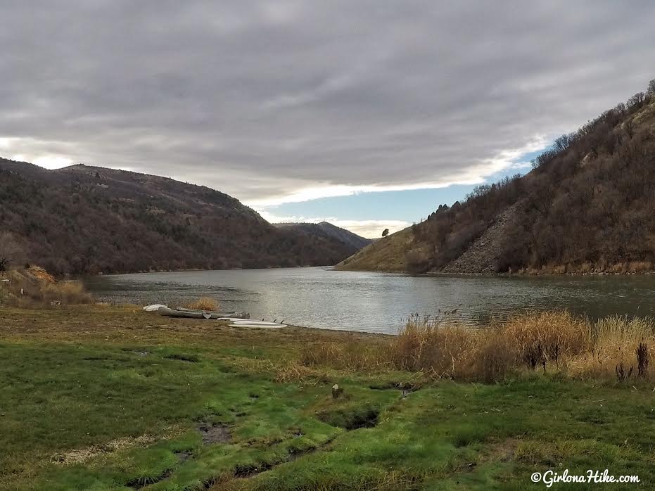
POLYGON ((557 311, 514 314, 479 329, 410 317, 398 336, 380 343, 308 345, 300 363, 488 383, 535 370, 636 382, 655 376, 649 365, 654 352, 652 319, 607 317, 592 322, 557 311))

